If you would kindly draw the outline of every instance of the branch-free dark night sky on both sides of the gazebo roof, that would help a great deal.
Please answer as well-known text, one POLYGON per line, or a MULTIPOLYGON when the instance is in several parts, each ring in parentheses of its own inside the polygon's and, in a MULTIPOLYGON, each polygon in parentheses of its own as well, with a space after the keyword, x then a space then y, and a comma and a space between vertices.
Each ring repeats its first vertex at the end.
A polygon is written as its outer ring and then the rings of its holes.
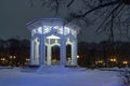
MULTIPOLYGON (((53 13, 39 6, 39 2, 30 8, 29 0, 0 0, 0 39, 20 35, 29 39, 26 23, 36 18, 53 17, 53 13)), ((106 35, 96 35, 94 29, 86 27, 78 35, 80 41, 99 42, 106 35)))

